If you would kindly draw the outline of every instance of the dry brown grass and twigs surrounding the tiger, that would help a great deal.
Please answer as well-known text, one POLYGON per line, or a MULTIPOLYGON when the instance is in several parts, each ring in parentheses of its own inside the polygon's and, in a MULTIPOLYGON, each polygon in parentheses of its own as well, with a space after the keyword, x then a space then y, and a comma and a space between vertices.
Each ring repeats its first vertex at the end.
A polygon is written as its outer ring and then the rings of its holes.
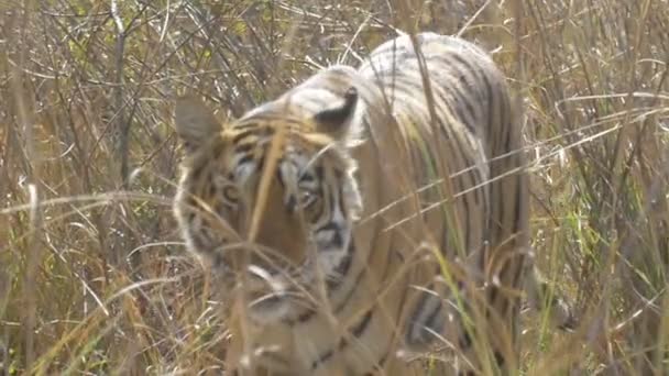
POLYGON ((669 2, 333 3, 0 2, 0 371, 220 367, 169 212, 173 99, 237 117, 396 27, 476 40, 525 98, 538 263, 580 316, 527 318, 525 373, 668 374, 669 2))

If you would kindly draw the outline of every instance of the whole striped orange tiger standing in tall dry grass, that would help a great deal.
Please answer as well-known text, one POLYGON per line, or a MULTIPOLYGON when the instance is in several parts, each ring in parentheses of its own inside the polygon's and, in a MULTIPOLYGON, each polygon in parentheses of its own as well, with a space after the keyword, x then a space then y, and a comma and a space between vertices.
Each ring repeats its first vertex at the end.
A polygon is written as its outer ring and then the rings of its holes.
POLYGON ((530 253, 518 112, 483 48, 431 32, 235 120, 178 98, 174 214, 226 302, 226 374, 514 374, 530 253))

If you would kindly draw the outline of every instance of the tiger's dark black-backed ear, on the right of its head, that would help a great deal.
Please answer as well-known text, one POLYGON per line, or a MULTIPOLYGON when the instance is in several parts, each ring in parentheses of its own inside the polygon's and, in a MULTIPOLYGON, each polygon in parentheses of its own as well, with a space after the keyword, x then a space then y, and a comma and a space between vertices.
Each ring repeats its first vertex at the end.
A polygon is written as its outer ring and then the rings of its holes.
POLYGON ((349 128, 358 106, 358 90, 350 87, 343 95, 343 101, 332 108, 325 109, 314 115, 316 130, 336 140, 341 140, 349 133, 349 128))

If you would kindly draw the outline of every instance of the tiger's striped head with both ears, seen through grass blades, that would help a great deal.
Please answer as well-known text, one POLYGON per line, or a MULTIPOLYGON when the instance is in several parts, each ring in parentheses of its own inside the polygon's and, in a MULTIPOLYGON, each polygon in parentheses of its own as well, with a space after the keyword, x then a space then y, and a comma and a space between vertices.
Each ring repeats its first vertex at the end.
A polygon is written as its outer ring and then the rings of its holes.
POLYGON ((256 321, 299 314, 351 263, 358 101, 353 88, 305 88, 227 124, 197 99, 176 103, 186 155, 174 209, 187 248, 222 290, 244 286, 256 321))

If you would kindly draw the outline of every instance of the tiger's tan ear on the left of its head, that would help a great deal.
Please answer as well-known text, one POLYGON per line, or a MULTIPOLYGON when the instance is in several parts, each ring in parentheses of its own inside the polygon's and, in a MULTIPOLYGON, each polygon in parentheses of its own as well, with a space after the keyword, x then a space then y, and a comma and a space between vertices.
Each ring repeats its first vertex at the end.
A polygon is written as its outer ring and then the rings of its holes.
POLYGON ((195 97, 178 98, 174 109, 174 118, 176 133, 188 152, 200 147, 222 129, 213 112, 200 99, 195 97))

